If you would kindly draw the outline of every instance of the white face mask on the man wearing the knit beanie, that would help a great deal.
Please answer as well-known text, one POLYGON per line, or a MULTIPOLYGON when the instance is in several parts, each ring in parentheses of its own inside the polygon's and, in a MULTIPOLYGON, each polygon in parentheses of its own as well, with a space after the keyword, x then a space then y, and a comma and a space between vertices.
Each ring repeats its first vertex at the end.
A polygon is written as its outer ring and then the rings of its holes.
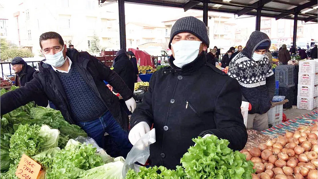
POLYGON ((193 62, 199 55, 201 43, 201 41, 195 40, 180 40, 175 44, 171 43, 175 53, 173 64, 182 68, 184 65, 193 62))

